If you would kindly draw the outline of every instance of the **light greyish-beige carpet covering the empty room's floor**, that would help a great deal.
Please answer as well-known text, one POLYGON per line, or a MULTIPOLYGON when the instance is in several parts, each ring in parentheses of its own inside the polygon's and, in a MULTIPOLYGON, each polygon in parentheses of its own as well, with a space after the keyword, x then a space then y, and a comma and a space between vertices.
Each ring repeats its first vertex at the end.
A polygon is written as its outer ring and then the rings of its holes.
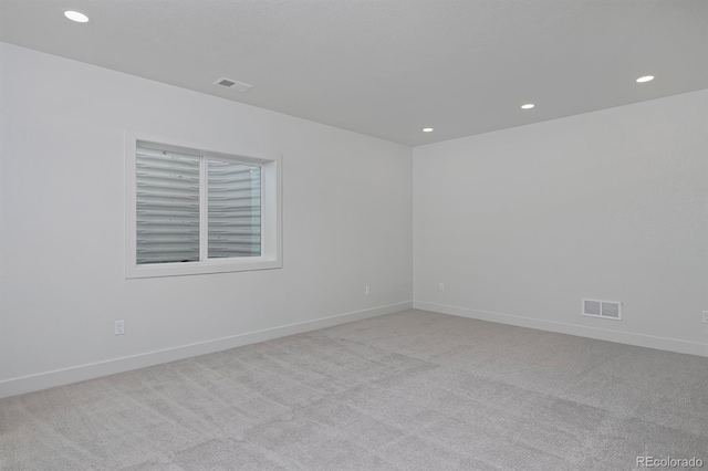
POLYGON ((708 358, 421 311, 0 400, 2 470, 708 469, 708 358))

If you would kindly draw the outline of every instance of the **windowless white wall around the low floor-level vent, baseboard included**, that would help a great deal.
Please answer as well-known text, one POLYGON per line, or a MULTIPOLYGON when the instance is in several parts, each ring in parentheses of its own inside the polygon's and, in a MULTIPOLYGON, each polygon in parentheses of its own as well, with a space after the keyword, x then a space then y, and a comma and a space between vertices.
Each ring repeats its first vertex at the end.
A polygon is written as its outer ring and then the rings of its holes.
POLYGON ((708 91, 414 148, 414 293, 708 356, 708 91), (624 320, 581 316, 582 297, 624 320))

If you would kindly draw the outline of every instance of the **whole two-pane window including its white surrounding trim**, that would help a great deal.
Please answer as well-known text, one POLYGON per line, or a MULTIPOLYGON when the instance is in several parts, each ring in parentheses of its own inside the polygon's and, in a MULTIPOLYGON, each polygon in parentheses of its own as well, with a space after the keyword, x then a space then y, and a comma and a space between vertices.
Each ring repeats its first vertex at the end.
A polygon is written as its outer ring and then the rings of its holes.
POLYGON ((280 158, 126 142, 127 278, 282 266, 280 158))

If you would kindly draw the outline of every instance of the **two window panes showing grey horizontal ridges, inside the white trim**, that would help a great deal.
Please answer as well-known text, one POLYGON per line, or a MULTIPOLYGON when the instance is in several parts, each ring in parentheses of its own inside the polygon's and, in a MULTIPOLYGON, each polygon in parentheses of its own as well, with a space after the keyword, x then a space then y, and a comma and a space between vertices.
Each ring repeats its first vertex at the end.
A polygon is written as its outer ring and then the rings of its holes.
POLYGON ((261 167, 136 147, 138 265, 260 255, 261 167))

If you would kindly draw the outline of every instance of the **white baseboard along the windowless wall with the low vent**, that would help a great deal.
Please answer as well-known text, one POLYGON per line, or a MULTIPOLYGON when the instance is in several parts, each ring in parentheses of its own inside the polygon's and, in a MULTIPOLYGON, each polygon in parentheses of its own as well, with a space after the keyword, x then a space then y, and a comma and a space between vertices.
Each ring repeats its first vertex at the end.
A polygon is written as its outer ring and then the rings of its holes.
POLYGON ((519 327, 537 328, 540 331, 558 332, 560 334, 575 335, 579 337, 596 338, 598 341, 616 342, 620 344, 635 345, 638 347, 655 348, 659 350, 708 357, 708 343, 688 342, 679 341, 677 338, 656 337, 652 335, 634 334, 629 332, 610 331, 605 328, 587 327, 584 325, 565 324, 553 321, 542 321, 538 318, 523 317, 511 314, 426 303, 423 301, 414 301, 413 307, 416 310, 431 311, 440 314, 456 315, 459 317, 469 317, 479 321, 510 324, 517 325, 519 327))

